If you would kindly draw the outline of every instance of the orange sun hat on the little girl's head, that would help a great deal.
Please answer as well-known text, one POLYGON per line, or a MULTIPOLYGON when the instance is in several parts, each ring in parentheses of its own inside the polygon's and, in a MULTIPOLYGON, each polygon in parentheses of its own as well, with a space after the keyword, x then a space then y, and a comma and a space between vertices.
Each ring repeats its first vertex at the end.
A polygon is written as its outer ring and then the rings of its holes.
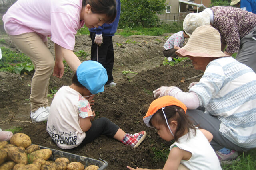
POLYGON ((144 123, 148 127, 152 127, 152 126, 150 126, 149 121, 152 118, 152 116, 156 113, 156 111, 158 111, 159 109, 162 109, 163 107, 171 106, 171 105, 175 105, 175 106, 182 108, 185 111, 185 113, 187 111, 187 107, 185 106, 184 103, 180 102, 180 100, 178 100, 172 96, 163 96, 161 98, 154 100, 150 104, 150 106, 148 108, 148 112, 146 113, 146 116, 143 117, 144 123))

